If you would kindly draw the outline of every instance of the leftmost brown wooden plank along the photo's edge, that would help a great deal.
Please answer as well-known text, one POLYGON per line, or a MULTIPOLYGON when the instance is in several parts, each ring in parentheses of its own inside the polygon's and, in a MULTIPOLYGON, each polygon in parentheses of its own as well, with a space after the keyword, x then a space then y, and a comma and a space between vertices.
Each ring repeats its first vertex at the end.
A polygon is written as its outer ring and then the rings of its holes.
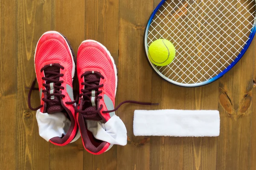
POLYGON ((0 18, 0 170, 13 170, 17 168, 17 3, 15 0, 0 2, 0 18))

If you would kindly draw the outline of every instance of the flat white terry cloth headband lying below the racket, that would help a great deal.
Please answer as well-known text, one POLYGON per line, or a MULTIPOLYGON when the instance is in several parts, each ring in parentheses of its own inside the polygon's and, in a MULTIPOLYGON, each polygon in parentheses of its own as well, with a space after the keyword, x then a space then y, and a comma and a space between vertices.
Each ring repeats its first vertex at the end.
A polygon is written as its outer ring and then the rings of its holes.
POLYGON ((134 111, 135 136, 219 136, 218 111, 134 111))

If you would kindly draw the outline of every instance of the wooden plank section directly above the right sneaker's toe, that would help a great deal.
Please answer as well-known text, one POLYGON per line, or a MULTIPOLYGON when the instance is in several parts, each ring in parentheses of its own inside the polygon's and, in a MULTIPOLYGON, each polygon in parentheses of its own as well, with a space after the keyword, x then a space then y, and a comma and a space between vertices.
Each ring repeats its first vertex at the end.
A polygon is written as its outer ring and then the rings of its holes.
POLYGON ((118 65, 119 0, 86 1, 85 39, 105 45, 118 65))

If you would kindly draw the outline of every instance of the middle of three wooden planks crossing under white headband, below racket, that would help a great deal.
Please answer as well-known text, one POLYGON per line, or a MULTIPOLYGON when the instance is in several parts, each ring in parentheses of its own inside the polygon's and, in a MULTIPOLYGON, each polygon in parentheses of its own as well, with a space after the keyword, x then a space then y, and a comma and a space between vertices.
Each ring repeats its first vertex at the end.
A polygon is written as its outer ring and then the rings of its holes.
MULTIPOLYGON (((152 74, 152 102, 159 102, 152 109, 184 109, 185 88, 165 82, 152 74)), ((159 137, 150 139, 151 170, 183 169, 183 137, 159 137)))

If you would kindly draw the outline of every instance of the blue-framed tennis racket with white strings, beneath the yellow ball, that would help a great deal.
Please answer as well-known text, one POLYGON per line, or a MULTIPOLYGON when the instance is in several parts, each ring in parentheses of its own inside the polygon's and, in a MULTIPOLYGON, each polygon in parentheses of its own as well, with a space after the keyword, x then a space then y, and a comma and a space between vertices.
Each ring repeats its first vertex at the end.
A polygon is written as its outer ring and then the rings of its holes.
POLYGON ((256 32, 255 0, 162 0, 145 28, 153 70, 176 85, 195 87, 222 77, 241 59, 256 32), (156 66, 149 45, 166 39, 175 59, 156 66))

